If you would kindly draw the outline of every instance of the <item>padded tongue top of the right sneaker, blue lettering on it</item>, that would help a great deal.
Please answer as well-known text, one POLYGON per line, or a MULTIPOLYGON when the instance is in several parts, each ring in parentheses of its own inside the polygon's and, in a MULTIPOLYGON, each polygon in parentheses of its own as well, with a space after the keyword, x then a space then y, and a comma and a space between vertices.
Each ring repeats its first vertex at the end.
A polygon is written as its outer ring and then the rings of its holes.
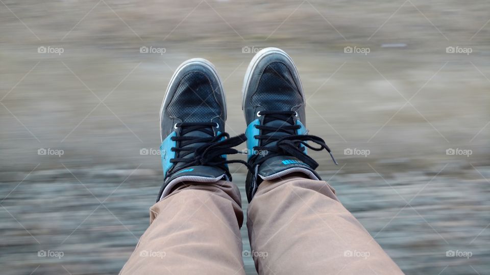
POLYGON ((262 162, 257 171, 257 174, 263 180, 272 180, 291 173, 303 173, 311 179, 320 179, 316 172, 305 162, 291 156, 271 157, 262 162))

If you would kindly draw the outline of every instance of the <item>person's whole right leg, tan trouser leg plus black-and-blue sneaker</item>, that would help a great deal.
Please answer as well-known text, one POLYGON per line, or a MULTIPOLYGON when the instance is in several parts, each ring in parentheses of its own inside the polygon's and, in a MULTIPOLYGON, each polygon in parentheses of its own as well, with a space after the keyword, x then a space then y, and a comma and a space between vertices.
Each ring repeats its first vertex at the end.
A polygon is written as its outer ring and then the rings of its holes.
POLYGON ((306 130, 306 99, 288 54, 260 50, 242 92, 251 167, 247 224, 259 273, 402 273, 316 173, 307 149, 331 151, 306 130))

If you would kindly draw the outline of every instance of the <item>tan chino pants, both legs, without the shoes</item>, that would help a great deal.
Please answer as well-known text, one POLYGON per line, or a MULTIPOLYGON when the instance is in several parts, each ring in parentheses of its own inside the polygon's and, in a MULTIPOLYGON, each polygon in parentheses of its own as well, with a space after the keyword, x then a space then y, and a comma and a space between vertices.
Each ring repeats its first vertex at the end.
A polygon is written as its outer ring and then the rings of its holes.
MULTIPOLYGON (((121 274, 244 274, 238 188, 186 182, 150 209, 121 274)), ((260 184, 248 208, 259 274, 403 274, 325 181, 260 184)))

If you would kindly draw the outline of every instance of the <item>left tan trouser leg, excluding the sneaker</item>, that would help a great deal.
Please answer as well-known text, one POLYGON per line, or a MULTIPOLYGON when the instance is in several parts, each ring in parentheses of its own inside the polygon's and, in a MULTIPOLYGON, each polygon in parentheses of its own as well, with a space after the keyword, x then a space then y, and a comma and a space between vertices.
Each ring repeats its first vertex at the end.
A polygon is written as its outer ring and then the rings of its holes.
POLYGON ((185 182, 150 209, 151 225, 120 274, 244 274, 238 188, 185 182))

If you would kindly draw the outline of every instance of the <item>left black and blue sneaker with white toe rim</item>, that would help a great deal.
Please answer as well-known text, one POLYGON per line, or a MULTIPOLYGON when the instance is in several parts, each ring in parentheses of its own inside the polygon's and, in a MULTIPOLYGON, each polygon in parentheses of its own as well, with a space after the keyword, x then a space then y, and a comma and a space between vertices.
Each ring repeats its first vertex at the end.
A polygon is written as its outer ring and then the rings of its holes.
POLYGON ((230 180, 226 154, 245 140, 225 132, 226 101, 214 66, 204 59, 182 63, 170 79, 160 110, 164 183, 157 201, 179 183, 230 180))

